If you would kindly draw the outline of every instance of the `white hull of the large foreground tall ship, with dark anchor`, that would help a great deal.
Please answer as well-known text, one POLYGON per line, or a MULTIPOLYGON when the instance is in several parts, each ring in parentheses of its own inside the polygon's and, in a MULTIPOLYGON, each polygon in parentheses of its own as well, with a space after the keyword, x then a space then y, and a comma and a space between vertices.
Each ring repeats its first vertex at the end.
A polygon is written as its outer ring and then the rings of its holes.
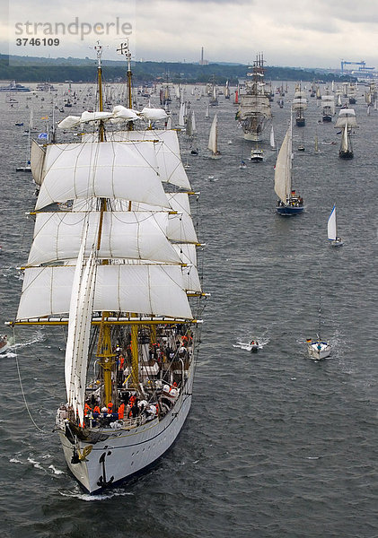
POLYGON ((145 424, 128 431, 101 430, 102 434, 109 433, 109 437, 92 444, 92 452, 86 456, 86 461, 77 464, 71 463, 74 449, 76 448, 82 453, 83 449, 91 443, 77 441, 73 445, 66 437, 65 432, 59 430, 68 468, 84 489, 89 493, 100 492, 104 489, 101 480, 105 479, 108 482, 107 485, 124 481, 132 475, 142 472, 163 456, 179 435, 188 416, 192 385, 193 366, 190 368, 188 381, 182 388, 176 404, 161 421, 158 419, 147 421, 145 424), (103 476, 104 469, 105 476, 103 476), (111 477, 113 478, 111 479, 111 477))

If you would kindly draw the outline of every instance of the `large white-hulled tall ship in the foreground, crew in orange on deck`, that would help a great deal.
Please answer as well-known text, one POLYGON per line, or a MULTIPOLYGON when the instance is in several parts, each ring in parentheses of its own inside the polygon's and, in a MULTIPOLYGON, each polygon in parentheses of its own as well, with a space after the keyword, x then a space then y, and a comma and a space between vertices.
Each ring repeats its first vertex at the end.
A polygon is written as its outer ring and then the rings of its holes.
MULTIPOLYGON (((103 111, 101 49, 98 111, 59 124, 98 128, 79 143, 47 147, 11 324, 67 327, 66 404, 56 430, 69 470, 90 493, 144 471, 179 435, 191 404, 200 324, 194 312, 203 297, 194 193, 177 134, 136 130, 138 118, 166 114, 136 113, 131 98, 128 108, 103 111), (67 200, 71 211, 51 210, 67 200)), ((128 43, 119 51, 131 85, 128 43)))

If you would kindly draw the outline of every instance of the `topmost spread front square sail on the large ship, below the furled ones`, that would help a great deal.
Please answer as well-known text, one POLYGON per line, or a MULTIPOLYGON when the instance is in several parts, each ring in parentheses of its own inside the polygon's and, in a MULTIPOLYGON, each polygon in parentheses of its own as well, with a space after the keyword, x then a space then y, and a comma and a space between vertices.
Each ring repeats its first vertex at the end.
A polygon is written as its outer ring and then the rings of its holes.
POLYGON ((92 196, 168 206, 152 142, 50 145, 45 169, 36 210, 92 196))

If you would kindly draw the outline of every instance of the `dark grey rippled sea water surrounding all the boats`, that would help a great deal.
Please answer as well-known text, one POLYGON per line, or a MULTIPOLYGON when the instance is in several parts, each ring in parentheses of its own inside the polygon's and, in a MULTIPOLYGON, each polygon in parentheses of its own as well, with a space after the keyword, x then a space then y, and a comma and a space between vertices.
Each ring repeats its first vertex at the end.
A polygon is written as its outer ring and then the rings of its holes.
MULTIPOLYGON (((150 473, 101 496, 85 495, 52 432, 65 399, 64 332, 31 327, 13 335, 4 327, 15 341, 0 358, 1 536, 378 536, 378 113, 366 115, 363 91, 360 86, 353 161, 338 159, 338 130, 318 123, 321 108, 309 97, 306 126, 294 127, 294 187, 306 205, 294 218, 275 213, 270 127, 261 144, 266 160, 239 169, 251 143, 242 141, 233 101, 220 96, 210 114, 218 113, 223 157, 208 159, 206 99, 187 92, 200 147, 198 157, 188 156, 188 173, 201 192, 204 289, 211 293, 188 421, 150 473), (321 155, 313 151, 315 134, 321 155), (298 153, 302 141, 305 152, 298 153), (324 143, 332 141, 337 145, 324 143), (327 239, 334 202, 344 239, 339 249, 327 239), (320 269, 321 333, 332 355, 319 363, 308 358, 305 339, 318 330, 320 269), (252 338, 264 344, 258 354, 248 351, 252 338)), ((272 104, 278 143, 293 92, 290 84, 285 108, 272 104)), ((24 213, 35 203, 31 175, 15 172, 27 137, 14 124, 27 124, 25 106, 32 103, 44 130, 40 117, 51 105, 40 96, 17 96, 10 108, 0 95, 1 323, 16 313, 17 266, 26 261, 33 228, 24 213)), ((175 101, 172 108, 177 113, 175 101)), ((186 161, 183 134, 180 142, 186 161)))

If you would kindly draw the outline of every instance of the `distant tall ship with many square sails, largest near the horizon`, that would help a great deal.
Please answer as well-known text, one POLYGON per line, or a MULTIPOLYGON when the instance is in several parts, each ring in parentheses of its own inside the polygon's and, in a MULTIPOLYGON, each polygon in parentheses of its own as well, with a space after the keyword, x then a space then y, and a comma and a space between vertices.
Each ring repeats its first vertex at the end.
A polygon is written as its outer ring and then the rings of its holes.
POLYGON ((252 71, 247 74, 245 86, 239 92, 239 110, 236 119, 242 126, 245 140, 259 142, 262 133, 272 117, 270 108, 270 89, 264 82, 264 57, 262 53, 256 56, 252 71))

